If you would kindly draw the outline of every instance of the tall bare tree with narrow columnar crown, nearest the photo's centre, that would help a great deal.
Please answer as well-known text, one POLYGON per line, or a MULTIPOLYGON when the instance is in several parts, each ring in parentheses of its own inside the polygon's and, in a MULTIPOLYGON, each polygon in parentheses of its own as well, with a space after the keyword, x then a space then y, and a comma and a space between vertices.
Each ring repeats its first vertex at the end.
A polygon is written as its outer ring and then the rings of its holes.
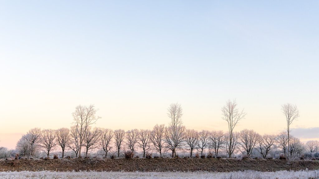
POLYGON ((167 108, 167 116, 171 119, 168 127, 165 128, 165 142, 167 148, 172 150, 172 157, 176 156, 176 149, 182 148, 185 126, 182 125, 183 110, 181 104, 172 103, 167 108))

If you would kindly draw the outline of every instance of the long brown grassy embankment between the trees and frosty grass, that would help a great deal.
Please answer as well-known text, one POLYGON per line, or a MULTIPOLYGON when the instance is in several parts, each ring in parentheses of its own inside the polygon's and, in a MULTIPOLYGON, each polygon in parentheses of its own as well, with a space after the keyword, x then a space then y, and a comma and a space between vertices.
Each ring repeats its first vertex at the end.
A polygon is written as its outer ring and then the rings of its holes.
POLYGON ((21 159, 0 161, 0 171, 280 171, 319 170, 319 161, 263 159, 21 159))

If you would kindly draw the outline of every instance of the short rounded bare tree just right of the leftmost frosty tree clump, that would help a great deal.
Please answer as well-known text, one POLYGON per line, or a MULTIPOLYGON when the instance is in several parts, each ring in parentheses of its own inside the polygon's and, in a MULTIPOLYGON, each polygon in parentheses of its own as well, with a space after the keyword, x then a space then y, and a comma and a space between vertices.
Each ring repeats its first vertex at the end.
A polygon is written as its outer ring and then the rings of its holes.
POLYGON ((49 158, 50 151, 56 146, 56 132, 52 129, 46 129, 41 132, 40 146, 44 149, 49 158))

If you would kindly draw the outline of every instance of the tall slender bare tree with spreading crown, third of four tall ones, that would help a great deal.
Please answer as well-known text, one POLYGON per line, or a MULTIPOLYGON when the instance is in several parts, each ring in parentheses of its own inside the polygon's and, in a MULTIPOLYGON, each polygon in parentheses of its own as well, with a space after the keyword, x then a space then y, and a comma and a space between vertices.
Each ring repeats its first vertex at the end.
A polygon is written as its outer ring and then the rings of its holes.
POLYGON ((227 135, 227 154, 229 155, 229 158, 231 157, 231 155, 233 154, 233 149, 235 149, 236 147, 234 146, 233 142, 237 142, 236 140, 233 139, 233 131, 234 131, 234 127, 237 125, 238 121, 240 121, 241 119, 245 118, 246 113, 244 112, 244 110, 239 111, 239 109, 237 108, 237 102, 234 99, 233 101, 228 100, 226 102, 226 105, 222 107, 221 109, 222 113, 223 113, 223 117, 222 119, 227 121, 228 123, 228 135, 227 135))

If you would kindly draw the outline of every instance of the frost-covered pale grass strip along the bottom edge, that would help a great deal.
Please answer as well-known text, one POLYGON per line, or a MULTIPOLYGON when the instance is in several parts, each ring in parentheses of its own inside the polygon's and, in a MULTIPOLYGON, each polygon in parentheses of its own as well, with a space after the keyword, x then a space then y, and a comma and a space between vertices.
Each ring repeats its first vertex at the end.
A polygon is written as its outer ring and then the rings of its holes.
POLYGON ((150 179, 319 179, 316 171, 278 171, 278 172, 0 172, 1 179, 110 179, 110 178, 150 178, 150 179))

